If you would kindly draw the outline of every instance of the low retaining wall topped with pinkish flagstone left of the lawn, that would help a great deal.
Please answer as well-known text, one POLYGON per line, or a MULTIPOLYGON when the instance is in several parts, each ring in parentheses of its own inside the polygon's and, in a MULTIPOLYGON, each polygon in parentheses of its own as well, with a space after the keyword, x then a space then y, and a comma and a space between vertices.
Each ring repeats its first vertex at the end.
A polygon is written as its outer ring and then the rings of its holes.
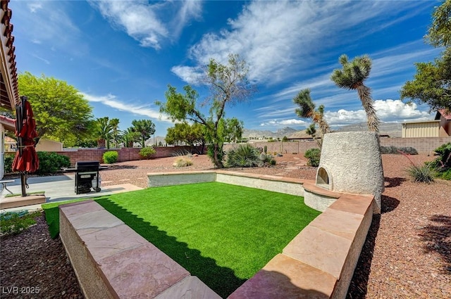
POLYGON ((85 298, 221 298, 95 201, 60 205, 59 215, 85 298))

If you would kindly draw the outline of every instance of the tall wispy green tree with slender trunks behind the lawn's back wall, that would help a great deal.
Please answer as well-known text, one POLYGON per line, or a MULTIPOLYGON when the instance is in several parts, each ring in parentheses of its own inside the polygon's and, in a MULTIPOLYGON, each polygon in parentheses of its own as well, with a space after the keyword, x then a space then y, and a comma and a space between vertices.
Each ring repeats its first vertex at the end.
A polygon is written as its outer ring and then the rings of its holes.
POLYGON ((228 65, 211 59, 199 82, 209 87, 209 96, 200 106, 197 105, 197 91, 190 85, 183 87, 185 94, 178 93, 175 87, 168 85, 166 103, 156 102, 160 112, 169 115, 173 121, 189 120, 204 126, 204 136, 209 143, 208 155, 218 168, 224 167, 223 144, 228 131, 228 120, 224 120, 226 105, 245 101, 254 92, 254 86, 247 79, 247 72, 245 61, 237 55, 229 55, 228 65), (203 106, 209 106, 208 116, 202 113, 203 106))

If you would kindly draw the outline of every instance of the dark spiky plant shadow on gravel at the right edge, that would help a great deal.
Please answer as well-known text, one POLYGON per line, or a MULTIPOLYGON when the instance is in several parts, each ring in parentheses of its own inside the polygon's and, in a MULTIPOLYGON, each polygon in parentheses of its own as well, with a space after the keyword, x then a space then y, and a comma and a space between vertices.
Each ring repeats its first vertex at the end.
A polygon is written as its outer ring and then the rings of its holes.
POLYGON ((424 252, 436 252, 445 262, 447 274, 451 274, 451 217, 447 215, 433 215, 430 221, 437 225, 429 224, 421 229, 421 241, 425 242, 424 252))

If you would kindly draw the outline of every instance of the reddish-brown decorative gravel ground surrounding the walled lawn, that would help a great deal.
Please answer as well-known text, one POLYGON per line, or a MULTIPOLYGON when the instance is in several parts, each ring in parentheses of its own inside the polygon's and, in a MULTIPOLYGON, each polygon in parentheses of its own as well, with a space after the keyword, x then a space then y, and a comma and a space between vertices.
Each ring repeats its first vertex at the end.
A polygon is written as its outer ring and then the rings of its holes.
MULTIPOLYGON (((410 163, 427 155, 382 155, 385 175, 381 215, 375 215, 354 272, 348 298, 451 298, 451 182, 411 182, 410 163)), ((145 188, 149 172, 208 170, 204 155, 174 168, 175 158, 130 161, 101 171, 102 184, 145 188)), ((276 167, 233 171, 315 179, 302 155, 276 157, 276 167)), ((1 237, 1 298, 83 298, 59 238, 51 240, 43 217, 18 236, 1 237), (16 288, 18 287, 18 291, 16 288), (39 293, 30 294, 32 288, 39 293), (8 292, 9 291, 9 292, 8 292)))

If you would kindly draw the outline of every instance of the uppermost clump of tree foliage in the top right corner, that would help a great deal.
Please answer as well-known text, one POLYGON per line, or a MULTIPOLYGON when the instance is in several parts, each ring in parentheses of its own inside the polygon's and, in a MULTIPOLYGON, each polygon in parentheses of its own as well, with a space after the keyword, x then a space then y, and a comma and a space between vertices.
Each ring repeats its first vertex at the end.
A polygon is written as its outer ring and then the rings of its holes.
POLYGON ((432 13, 432 25, 426 39, 433 46, 451 45, 451 0, 443 1, 432 13))

